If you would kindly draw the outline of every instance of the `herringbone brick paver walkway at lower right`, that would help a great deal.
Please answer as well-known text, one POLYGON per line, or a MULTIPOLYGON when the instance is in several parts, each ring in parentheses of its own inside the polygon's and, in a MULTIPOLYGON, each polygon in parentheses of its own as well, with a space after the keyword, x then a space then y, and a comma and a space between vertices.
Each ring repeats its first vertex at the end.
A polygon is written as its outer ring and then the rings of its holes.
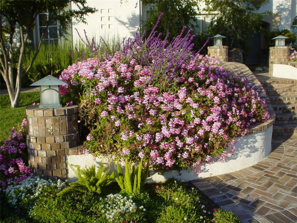
POLYGON ((242 222, 297 222, 297 136, 285 139, 256 165, 191 183, 242 222))

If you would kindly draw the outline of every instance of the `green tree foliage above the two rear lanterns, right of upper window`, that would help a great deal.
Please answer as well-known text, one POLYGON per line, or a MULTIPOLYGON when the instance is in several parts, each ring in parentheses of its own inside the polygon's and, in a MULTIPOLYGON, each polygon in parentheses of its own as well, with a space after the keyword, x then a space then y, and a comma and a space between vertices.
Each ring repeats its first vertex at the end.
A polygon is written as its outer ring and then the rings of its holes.
POLYGON ((266 0, 206 0, 207 7, 204 10, 208 13, 218 12, 206 32, 209 36, 219 33, 228 37, 224 41, 229 49, 245 50, 248 37, 261 30, 262 13, 256 12, 255 4, 260 6, 266 2, 266 0))

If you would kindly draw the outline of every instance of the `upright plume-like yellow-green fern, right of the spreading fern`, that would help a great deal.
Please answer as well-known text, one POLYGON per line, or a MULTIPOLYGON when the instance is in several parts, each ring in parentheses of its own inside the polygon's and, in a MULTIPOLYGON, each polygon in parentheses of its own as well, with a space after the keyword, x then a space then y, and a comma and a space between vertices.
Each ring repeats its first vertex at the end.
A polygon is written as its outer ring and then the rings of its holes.
POLYGON ((125 176, 117 161, 117 177, 115 180, 119 184, 122 193, 140 193, 143 184, 146 182, 146 178, 149 173, 149 164, 146 167, 142 166, 143 159, 140 160, 138 166, 132 165, 132 162, 128 162, 125 159, 125 176), (131 167, 132 166, 132 167, 131 167))

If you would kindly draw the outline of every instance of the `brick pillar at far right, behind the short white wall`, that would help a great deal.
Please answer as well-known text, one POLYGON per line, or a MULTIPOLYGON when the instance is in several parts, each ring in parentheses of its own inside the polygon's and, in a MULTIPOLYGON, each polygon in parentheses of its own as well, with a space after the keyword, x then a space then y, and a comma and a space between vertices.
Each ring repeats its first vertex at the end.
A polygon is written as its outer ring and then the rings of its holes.
POLYGON ((291 47, 269 47, 269 76, 272 76, 273 63, 276 61, 289 61, 291 47))

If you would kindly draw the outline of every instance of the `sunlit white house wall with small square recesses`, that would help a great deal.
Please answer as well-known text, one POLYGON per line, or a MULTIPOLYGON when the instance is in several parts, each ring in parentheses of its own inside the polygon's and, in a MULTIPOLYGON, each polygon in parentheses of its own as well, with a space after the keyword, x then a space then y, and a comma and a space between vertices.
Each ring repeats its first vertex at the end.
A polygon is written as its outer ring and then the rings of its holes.
MULTIPOLYGON (((139 0, 88 0, 89 7, 95 7, 98 12, 89 14, 86 19, 88 24, 81 22, 72 23, 73 42, 79 40, 75 28, 81 36, 83 30, 86 30, 87 36, 98 39, 102 36, 104 39, 118 36, 133 37, 138 25, 140 24, 140 4, 139 0)), ((72 9, 77 9, 71 5, 72 9)))

